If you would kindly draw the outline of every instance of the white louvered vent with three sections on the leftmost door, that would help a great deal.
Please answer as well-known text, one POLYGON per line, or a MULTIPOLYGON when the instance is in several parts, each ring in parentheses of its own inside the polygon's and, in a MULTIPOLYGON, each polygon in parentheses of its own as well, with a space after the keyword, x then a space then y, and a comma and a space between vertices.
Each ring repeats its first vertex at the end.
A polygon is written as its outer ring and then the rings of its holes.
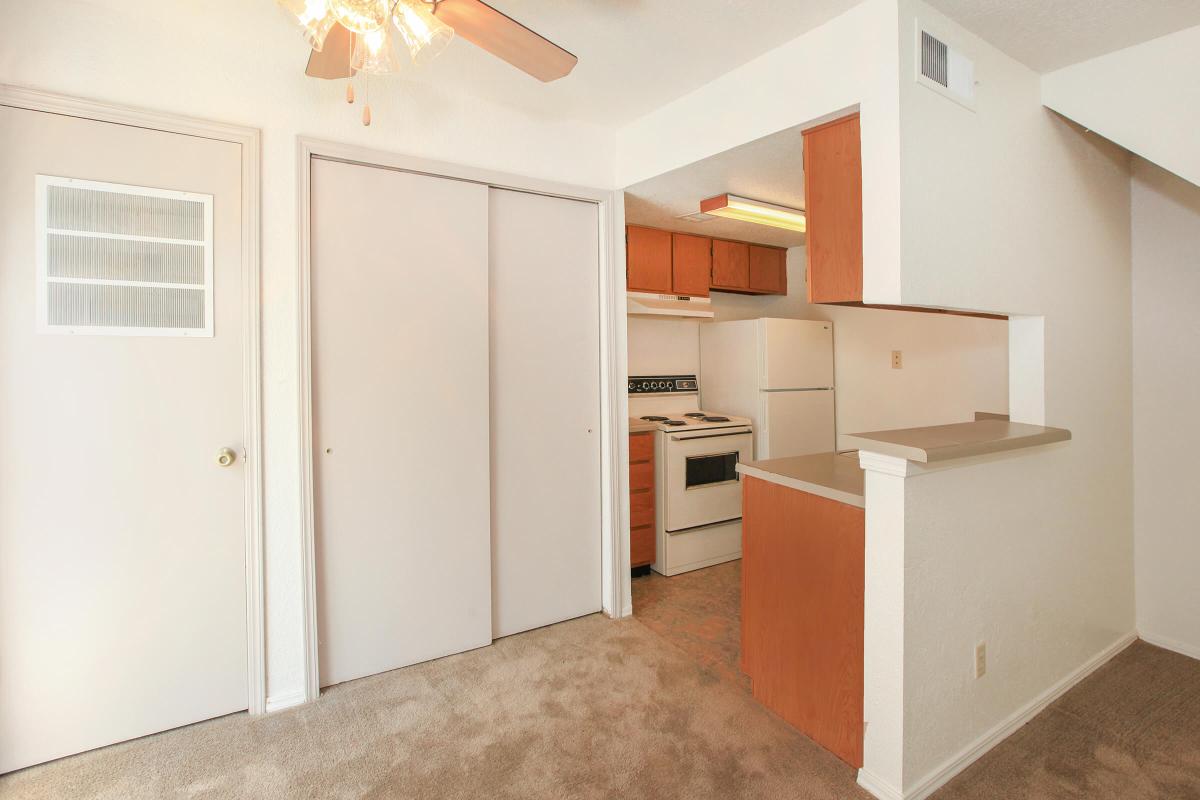
POLYGON ((212 196, 37 176, 44 332, 212 336, 212 196))

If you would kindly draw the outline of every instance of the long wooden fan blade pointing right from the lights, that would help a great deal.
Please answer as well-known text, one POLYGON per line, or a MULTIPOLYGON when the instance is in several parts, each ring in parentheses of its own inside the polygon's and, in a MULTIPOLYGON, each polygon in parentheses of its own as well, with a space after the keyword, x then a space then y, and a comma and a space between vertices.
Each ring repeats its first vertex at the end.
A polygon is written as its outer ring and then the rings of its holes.
POLYGON ((436 13, 458 36, 545 83, 566 76, 580 61, 482 0, 440 0, 436 13))

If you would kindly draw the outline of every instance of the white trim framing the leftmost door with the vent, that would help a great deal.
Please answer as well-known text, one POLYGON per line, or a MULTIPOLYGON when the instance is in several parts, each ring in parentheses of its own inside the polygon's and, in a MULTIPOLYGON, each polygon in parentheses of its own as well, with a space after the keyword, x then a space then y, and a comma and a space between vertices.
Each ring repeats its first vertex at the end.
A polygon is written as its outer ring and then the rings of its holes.
POLYGON ((0 84, 0 106, 230 142, 241 148, 242 431, 246 474, 246 673, 251 714, 266 710, 266 639, 263 600, 263 405, 259 331, 260 158, 257 128, 180 114, 98 103, 0 84))

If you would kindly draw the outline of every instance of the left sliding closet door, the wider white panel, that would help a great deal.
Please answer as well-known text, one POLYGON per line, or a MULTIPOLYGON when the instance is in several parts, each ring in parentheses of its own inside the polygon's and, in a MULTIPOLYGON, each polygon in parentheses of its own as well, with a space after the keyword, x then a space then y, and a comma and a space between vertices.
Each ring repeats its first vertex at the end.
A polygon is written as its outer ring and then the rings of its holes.
POLYGON ((487 187, 312 162, 320 684, 492 639, 487 187))

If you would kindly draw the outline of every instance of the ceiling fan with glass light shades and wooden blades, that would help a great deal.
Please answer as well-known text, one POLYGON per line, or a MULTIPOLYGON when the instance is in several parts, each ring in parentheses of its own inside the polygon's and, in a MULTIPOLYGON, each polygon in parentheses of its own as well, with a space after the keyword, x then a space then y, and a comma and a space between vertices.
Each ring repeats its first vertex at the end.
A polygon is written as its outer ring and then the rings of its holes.
MULTIPOLYGON (((455 34, 544 83, 571 72, 578 59, 482 0, 276 0, 312 46, 305 73, 313 78, 388 74, 397 52, 425 64, 455 34)), ((354 102, 354 88, 347 86, 354 102)), ((364 109, 362 124, 371 124, 364 109)))

